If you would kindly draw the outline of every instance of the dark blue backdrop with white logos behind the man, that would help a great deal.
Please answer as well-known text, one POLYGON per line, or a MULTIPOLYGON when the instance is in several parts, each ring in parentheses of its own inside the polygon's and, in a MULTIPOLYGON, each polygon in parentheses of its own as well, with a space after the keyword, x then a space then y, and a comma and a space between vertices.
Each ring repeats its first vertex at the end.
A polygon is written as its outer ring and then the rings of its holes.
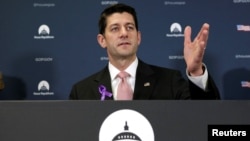
POLYGON ((138 14, 138 57, 185 75, 183 30, 210 24, 204 62, 222 99, 250 99, 249 0, 1 0, 0 99, 68 99, 77 81, 99 71, 107 55, 96 40, 101 11, 127 3, 138 14), (170 30, 176 23, 178 30, 170 30))

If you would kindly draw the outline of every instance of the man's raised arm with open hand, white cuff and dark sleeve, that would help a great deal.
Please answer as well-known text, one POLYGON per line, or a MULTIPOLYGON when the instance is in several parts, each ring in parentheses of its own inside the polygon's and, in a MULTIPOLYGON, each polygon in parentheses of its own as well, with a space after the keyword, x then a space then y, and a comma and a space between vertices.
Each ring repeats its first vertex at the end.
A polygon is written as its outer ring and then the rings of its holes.
POLYGON ((184 59, 187 65, 191 99, 220 99, 219 91, 203 63, 209 35, 209 24, 204 23, 200 32, 191 40, 191 27, 184 31, 184 59))

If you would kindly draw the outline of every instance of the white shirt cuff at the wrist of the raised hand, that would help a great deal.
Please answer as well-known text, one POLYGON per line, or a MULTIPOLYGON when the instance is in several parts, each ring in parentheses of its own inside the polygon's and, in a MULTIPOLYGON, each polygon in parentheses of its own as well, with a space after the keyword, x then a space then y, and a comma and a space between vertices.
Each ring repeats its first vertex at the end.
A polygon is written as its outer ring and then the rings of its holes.
POLYGON ((186 75, 191 82, 193 82, 199 88, 205 90, 208 80, 208 72, 205 64, 203 64, 203 67, 204 67, 204 73, 201 76, 190 76, 187 70, 186 70, 186 75))

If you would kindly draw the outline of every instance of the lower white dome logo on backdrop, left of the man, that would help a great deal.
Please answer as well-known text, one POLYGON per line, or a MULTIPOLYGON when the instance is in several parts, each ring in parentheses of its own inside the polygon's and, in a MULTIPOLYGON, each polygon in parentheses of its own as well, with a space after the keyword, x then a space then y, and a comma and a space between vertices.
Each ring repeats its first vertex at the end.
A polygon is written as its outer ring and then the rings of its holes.
POLYGON ((50 92, 49 83, 46 80, 42 80, 38 83, 38 91, 34 92, 34 95, 54 95, 54 92, 50 92))

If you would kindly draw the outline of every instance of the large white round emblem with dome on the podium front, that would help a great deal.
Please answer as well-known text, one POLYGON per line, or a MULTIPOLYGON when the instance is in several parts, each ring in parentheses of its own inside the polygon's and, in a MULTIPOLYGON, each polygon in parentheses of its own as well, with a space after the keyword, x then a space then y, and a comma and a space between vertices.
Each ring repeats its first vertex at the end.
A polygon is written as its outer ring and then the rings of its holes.
POLYGON ((99 141, 154 141, 150 122, 142 114, 130 109, 110 114, 102 123, 99 141))

